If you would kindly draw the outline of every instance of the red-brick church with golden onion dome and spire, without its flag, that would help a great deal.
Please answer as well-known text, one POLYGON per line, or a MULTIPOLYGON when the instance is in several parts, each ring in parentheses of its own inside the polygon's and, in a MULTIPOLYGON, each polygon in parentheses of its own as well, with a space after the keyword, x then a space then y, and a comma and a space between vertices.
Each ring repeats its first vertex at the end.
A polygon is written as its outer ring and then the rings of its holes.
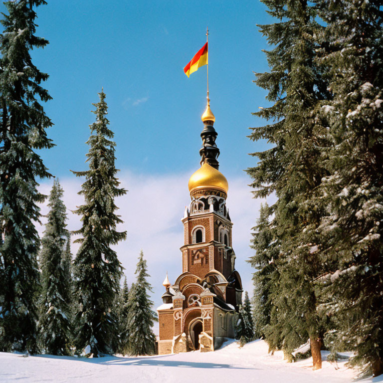
POLYGON ((218 171, 215 117, 209 99, 201 117, 200 168, 189 180, 191 203, 186 207, 182 274, 172 285, 166 277, 163 304, 158 307, 159 354, 214 351, 234 338, 242 284, 235 270, 232 222, 226 207, 228 183, 218 171))

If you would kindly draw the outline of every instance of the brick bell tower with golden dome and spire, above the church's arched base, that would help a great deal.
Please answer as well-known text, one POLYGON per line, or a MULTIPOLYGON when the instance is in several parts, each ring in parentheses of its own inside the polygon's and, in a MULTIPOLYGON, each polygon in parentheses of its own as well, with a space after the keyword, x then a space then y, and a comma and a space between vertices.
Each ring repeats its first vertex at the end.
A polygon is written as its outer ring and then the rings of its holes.
POLYGON ((201 167, 189 180, 191 203, 185 209, 183 272, 191 272, 203 278, 211 270, 217 270, 228 278, 234 270, 235 253, 231 243, 229 212, 226 207, 228 183, 218 171, 219 149, 215 140, 215 117, 209 103, 201 120, 202 146, 199 150, 201 167))

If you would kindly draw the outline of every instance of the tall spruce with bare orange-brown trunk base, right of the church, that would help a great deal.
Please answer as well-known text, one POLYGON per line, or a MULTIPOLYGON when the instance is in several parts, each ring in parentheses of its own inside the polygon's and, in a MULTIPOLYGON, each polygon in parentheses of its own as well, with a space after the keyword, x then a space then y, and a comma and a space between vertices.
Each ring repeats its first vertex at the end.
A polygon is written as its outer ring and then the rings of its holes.
POLYGON ((280 242, 279 290, 273 298, 278 321, 272 332, 286 355, 311 339, 314 369, 321 367, 323 319, 319 317, 315 279, 323 273, 317 233, 324 207, 317 188, 326 170, 320 148, 327 131, 319 114, 320 101, 329 97, 316 63, 316 22, 312 3, 298 0, 264 0, 279 22, 261 25, 273 46, 267 51, 270 72, 257 73, 256 84, 268 90, 267 100, 256 116, 274 121, 253 128, 252 140, 267 139, 273 145, 254 153, 259 163, 248 169, 254 195, 275 192, 273 206, 276 239, 280 242), (304 318, 304 320, 302 320, 304 318))

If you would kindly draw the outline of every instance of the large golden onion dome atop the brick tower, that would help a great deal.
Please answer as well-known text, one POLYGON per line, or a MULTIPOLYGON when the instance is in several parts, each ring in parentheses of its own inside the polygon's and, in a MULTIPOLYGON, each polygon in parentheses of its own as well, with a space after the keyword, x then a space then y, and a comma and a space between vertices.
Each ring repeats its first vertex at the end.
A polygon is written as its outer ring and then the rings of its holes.
POLYGON ((189 192, 194 189, 218 189, 227 194, 229 185, 225 176, 214 169, 209 164, 203 163, 202 166, 192 174, 189 180, 189 192))

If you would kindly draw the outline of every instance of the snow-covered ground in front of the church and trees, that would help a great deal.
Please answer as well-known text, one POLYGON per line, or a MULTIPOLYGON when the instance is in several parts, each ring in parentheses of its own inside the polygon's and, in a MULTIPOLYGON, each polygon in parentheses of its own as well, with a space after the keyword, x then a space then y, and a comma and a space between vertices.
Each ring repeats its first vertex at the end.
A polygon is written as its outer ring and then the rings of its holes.
MULTIPOLYGON (((326 359, 327 353, 323 353, 326 359)), ((286 363, 280 352, 267 354, 263 341, 254 341, 243 348, 226 342, 213 353, 199 351, 138 358, 104 357, 85 359, 29 356, 0 353, 0 382, 267 382, 267 383, 346 383, 357 373, 345 362, 323 362, 322 370, 312 371, 312 361, 286 363)), ((383 376, 368 378, 363 383, 383 382, 383 376)))

